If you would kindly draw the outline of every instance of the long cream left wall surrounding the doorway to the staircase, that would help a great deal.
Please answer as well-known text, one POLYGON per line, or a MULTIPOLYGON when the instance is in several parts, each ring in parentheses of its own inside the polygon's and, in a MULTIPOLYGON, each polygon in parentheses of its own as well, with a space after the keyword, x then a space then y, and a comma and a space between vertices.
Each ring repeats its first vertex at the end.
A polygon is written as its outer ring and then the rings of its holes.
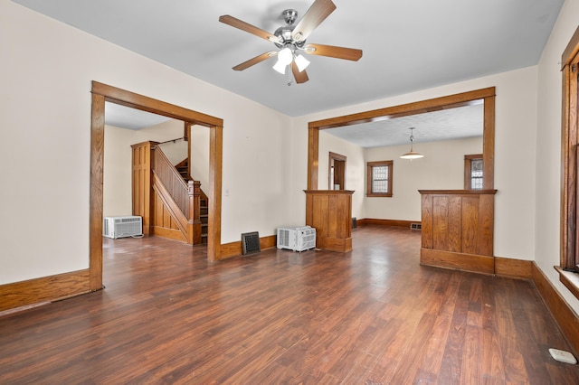
POLYGON ((89 267, 91 80, 223 118, 223 243, 287 223, 289 117, 7 0, 0 44, 0 284, 89 267))

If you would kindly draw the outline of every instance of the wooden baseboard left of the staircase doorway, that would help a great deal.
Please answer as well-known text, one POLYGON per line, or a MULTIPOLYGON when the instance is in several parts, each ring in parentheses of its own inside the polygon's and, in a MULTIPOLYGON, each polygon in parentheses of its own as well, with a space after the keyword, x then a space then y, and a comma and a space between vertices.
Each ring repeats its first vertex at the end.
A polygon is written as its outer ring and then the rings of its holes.
POLYGON ((5 284, 0 286, 0 312, 89 292, 89 269, 5 284))

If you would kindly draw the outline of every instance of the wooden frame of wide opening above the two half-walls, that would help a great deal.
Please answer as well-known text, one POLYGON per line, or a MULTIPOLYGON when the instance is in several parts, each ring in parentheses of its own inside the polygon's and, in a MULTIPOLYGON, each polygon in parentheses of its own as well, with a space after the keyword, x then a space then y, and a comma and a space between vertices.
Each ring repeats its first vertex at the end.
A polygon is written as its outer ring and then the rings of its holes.
POLYGON ((468 106, 473 102, 484 100, 483 113, 483 189, 494 189, 495 174, 495 88, 476 89, 427 99, 394 107, 379 108, 342 117, 330 117, 308 123, 308 190, 318 190, 319 130, 343 126, 352 126, 394 117, 407 117, 425 112, 446 108, 468 106))

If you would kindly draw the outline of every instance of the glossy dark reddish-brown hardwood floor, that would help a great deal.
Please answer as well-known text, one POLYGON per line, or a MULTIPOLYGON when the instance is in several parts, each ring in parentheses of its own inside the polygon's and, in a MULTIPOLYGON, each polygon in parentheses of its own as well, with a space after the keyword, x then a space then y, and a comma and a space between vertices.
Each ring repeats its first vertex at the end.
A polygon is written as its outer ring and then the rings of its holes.
POLYGON ((0 317, 0 383, 577 384, 525 280, 419 266, 420 232, 346 254, 104 239, 104 290, 0 317))

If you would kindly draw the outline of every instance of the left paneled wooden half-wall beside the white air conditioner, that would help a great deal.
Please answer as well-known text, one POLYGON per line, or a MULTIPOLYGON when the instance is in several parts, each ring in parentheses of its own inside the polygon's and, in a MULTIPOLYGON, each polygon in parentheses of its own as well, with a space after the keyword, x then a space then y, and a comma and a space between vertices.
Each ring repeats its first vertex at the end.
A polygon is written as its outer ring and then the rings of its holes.
POLYGON ((316 247, 352 250, 352 193, 349 190, 305 190, 306 224, 316 229, 316 247))

